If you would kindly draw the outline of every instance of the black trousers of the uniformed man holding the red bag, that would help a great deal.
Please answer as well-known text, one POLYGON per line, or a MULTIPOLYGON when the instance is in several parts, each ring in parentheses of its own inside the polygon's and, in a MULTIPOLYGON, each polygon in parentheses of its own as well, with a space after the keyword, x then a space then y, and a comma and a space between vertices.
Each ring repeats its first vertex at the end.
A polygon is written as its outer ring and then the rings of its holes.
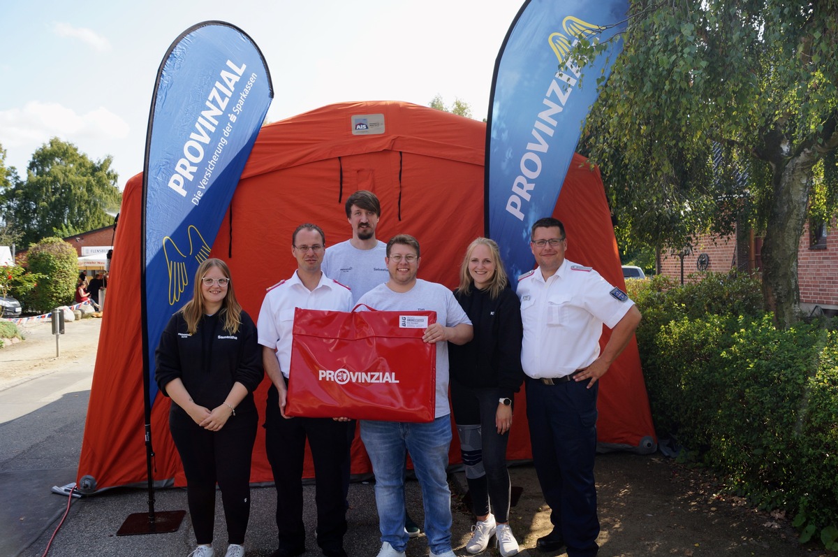
POLYGON ((322 549, 343 548, 346 534, 344 462, 349 457, 346 422, 331 418, 282 418, 277 389, 268 390, 265 412, 265 449, 277 486, 279 549, 304 549, 303 459, 306 440, 311 447, 317 478, 317 542, 322 549))

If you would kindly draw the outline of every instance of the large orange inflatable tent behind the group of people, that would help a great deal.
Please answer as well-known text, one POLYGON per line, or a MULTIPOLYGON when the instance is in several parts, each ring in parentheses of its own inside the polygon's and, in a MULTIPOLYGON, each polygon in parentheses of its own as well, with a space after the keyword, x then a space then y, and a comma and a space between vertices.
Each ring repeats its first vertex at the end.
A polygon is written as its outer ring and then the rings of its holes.
MULTIPOLYGON (((350 229, 344 201, 355 190, 380 198, 381 239, 405 232, 422 245, 422 279, 450 288, 465 247, 484 232, 484 122, 403 102, 356 102, 323 107, 261 128, 241 181, 215 237, 211 257, 224 259, 236 295, 254 320, 266 289, 296 268, 291 234, 302 222, 323 227, 327 245, 350 229), (383 133, 356 135, 355 115, 380 114, 383 133)), ((567 257, 597 268, 623 286, 617 244, 599 171, 576 155, 555 216, 566 225, 567 257)), ((78 480, 96 489, 147 481, 142 402, 140 249, 142 174, 128 180, 116 231, 107 310, 87 412, 78 480)), ((503 238, 495 238, 503 242, 503 238)), ((264 409, 268 381, 256 391, 264 409)), ((530 458, 525 401, 516 398, 508 458, 530 458)), ((632 341, 603 377, 599 395, 601 449, 651 452, 656 446, 649 403, 632 341)), ((185 485, 168 433, 169 400, 153 403, 154 482, 185 485)), ((452 443, 451 461, 459 462, 452 443)), ((371 471, 359 439, 352 471, 371 471)), ((307 462, 305 473, 313 476, 307 462)), ((260 428, 251 482, 272 482, 260 428)))

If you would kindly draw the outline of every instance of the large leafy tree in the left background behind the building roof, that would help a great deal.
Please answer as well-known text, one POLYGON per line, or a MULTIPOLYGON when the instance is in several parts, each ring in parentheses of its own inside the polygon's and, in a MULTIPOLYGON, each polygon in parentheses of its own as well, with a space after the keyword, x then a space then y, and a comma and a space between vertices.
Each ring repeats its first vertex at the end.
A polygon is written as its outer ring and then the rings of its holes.
POLYGON ((71 236, 113 222, 122 194, 111 157, 92 161, 73 143, 52 138, 35 151, 26 180, 5 195, 23 245, 43 237, 71 236))

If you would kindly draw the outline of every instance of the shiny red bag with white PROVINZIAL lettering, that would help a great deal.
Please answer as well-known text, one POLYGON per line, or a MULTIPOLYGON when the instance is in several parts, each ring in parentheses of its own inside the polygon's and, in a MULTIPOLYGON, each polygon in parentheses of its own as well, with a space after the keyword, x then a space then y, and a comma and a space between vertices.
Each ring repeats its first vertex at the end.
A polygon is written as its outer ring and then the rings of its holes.
POLYGON ((422 335, 436 321, 436 311, 297 308, 285 414, 433 421, 437 343, 422 335))

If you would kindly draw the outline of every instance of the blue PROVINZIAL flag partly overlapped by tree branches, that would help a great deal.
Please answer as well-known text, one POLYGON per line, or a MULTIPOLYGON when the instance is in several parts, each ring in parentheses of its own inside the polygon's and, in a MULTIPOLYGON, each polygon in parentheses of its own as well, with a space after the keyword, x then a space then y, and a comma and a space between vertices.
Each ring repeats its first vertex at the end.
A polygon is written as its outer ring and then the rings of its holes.
POLYGON ((533 267, 530 227, 553 213, 582 123, 597 100, 597 78, 608 76, 622 49, 615 35, 625 29, 628 10, 628 0, 528 0, 500 49, 487 124, 484 199, 486 234, 498 242, 510 277, 533 267), (567 52, 582 36, 612 40, 579 69, 567 52))

